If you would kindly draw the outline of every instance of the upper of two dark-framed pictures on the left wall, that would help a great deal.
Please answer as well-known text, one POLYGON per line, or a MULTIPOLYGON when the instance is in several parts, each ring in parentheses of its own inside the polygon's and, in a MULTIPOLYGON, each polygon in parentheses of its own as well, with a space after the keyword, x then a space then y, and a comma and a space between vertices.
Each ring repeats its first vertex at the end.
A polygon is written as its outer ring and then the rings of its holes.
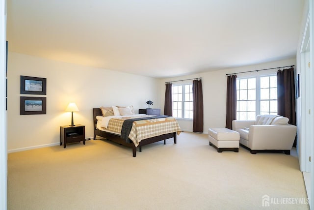
POLYGON ((46 78, 21 76, 21 94, 46 95, 46 78))

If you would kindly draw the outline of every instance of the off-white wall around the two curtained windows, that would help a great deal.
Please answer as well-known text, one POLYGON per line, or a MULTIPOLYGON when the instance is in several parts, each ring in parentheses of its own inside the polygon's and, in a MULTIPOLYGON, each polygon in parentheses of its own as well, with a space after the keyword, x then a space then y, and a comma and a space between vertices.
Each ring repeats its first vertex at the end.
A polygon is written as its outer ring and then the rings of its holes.
MULTIPOLYGON (((210 71, 199 74, 193 74, 183 77, 167 78, 160 81, 161 90, 161 112, 164 109, 165 82, 193 79, 202 77, 203 85, 203 102, 204 102, 204 133, 208 132, 209 127, 225 127, 226 126, 226 93, 227 93, 227 75, 229 73, 253 71, 288 65, 295 65, 296 60, 287 59, 276 62, 267 62, 258 65, 242 66, 238 68, 230 68, 218 71, 210 71)), ((296 67, 294 67, 296 68, 296 67)), ((239 77, 245 77, 263 73, 274 73, 277 69, 238 74, 239 77)), ((193 130, 192 120, 178 120, 181 129, 184 131, 193 130)))

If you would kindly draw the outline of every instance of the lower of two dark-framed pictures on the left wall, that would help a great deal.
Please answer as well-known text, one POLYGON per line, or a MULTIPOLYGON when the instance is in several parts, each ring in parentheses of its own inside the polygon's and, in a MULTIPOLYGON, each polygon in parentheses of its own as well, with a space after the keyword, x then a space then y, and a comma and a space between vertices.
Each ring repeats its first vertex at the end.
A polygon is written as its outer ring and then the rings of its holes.
POLYGON ((24 97, 20 98, 20 115, 41 115, 46 114, 45 97, 24 97))

